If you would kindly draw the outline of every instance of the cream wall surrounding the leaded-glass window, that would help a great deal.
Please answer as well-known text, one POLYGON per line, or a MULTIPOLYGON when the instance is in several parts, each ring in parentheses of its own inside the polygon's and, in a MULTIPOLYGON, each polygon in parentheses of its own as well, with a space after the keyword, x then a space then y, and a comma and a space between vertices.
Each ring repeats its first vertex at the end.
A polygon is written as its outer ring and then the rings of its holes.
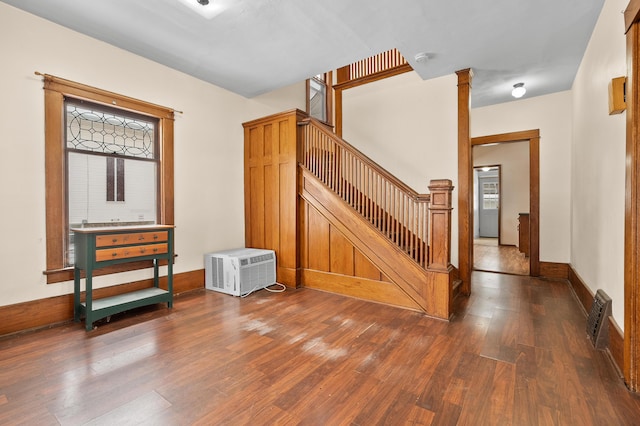
MULTIPOLYGON (((242 122, 304 109, 304 82, 251 100, 0 3, 0 305, 73 292, 46 284, 40 71, 184 111, 175 120, 176 273, 244 244, 242 122)), ((150 271, 98 277, 96 286, 150 271)))

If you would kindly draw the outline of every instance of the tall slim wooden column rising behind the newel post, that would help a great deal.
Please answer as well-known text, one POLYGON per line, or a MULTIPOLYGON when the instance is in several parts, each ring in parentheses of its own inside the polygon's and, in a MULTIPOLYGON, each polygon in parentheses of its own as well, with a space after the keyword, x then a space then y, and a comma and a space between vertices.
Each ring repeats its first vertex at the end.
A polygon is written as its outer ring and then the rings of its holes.
POLYGON ((471 80, 470 68, 458 74, 458 269, 461 291, 471 293, 471 259, 473 256, 473 177, 471 158, 471 80))

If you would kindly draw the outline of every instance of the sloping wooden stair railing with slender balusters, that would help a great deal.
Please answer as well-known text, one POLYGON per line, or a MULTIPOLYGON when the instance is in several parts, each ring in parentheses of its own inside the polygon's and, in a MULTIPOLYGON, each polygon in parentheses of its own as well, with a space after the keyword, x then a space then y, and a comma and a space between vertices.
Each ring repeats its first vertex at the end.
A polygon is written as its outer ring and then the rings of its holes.
MULTIPOLYGON (((420 266, 430 266, 430 194, 418 194, 320 122, 308 119, 299 124, 304 126, 304 167, 420 266)), ((448 250, 449 241, 444 247, 448 250)), ((437 267, 447 264, 448 258, 447 253, 445 259, 436 260, 437 267)))

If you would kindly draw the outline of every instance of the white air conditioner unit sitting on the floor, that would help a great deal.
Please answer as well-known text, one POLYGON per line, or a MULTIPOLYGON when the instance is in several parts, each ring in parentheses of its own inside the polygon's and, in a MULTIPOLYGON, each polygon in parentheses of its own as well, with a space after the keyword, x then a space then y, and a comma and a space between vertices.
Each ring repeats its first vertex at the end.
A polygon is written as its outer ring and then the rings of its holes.
POLYGON ((273 250, 239 248, 204 255, 205 287, 244 296, 276 282, 273 250))

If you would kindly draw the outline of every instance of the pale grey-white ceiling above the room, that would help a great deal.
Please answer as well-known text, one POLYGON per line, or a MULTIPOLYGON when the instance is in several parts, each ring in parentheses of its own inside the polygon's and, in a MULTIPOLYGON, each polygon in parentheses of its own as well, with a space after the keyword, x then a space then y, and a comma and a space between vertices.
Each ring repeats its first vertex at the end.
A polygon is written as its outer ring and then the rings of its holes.
POLYGON ((518 82, 526 97, 570 89, 604 3, 211 0, 207 19, 196 0, 1 1, 246 97, 395 47, 423 79, 472 68, 474 107, 518 82))

